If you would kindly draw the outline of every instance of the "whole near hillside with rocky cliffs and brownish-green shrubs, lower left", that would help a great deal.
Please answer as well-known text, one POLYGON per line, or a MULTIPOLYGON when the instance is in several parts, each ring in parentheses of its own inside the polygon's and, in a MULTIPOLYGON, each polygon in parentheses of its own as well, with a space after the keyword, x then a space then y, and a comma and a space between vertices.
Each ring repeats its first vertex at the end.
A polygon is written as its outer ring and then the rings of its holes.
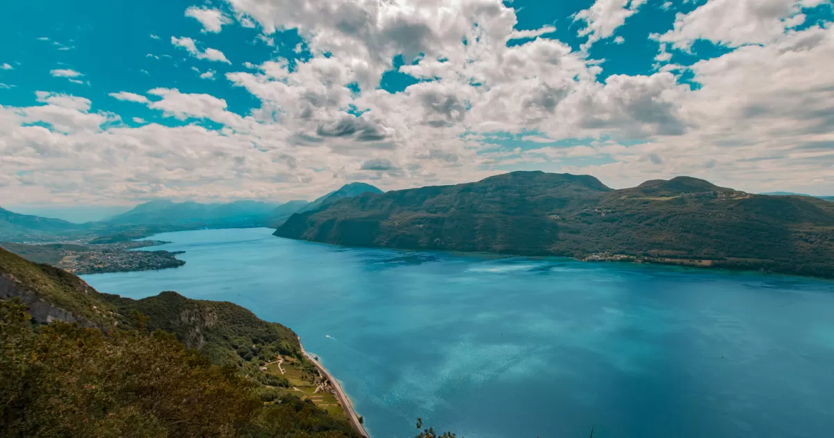
POLYGON ((359 436, 263 366, 278 357, 314 370, 238 305, 100 294, 0 249, 0 435, 359 436))

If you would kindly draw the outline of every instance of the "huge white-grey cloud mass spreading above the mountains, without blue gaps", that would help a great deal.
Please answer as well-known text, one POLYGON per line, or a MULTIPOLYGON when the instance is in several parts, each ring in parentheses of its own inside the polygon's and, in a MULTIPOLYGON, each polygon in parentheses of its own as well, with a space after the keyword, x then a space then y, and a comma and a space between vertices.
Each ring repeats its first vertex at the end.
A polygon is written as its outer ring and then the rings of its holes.
MULTIPOLYGON (((658 68, 641 75, 603 74, 608 63, 555 39, 549 26, 515 29, 515 11, 500 0, 227 3, 230 16, 258 23, 270 38, 297 28, 309 56, 226 73, 257 99, 244 111, 170 86, 111 94, 146 105, 164 124, 127 126, 60 93, 39 93, 31 107, 0 106, 4 173, 43 182, 11 176, 0 195, 312 199, 353 180, 402 189, 518 164, 620 187, 691 174, 739 189, 798 191, 812 175, 815 187, 834 192, 834 79, 826 74, 834 30, 797 30, 809 2, 698 3, 656 37, 658 68), (698 11, 711 4, 751 21, 716 15, 706 29, 711 16, 698 11), (770 12, 756 9, 763 4, 770 12), (669 63, 673 51, 702 38, 733 49, 669 63), (418 82, 390 93, 379 79, 397 54, 406 60, 399 73, 418 82)), ((600 0, 577 14, 586 44, 618 43, 616 30, 643 4, 600 0)), ((208 53, 191 38, 172 43, 195 58, 208 53)), ((197 70, 207 73, 217 75, 197 70)))

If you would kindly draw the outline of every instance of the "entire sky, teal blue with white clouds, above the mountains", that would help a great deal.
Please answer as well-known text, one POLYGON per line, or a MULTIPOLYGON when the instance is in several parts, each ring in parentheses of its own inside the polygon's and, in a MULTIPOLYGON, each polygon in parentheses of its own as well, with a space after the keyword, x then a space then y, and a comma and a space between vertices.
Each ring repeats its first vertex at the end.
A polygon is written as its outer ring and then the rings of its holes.
POLYGON ((832 21, 831 0, 4 2, 0 205, 513 170, 834 194, 832 21))

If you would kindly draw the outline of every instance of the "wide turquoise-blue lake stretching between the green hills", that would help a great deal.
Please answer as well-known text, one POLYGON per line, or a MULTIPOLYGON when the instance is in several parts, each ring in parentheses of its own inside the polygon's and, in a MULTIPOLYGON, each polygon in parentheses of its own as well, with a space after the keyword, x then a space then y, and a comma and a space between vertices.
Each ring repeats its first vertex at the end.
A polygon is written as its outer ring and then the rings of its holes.
POLYGON ((834 282, 159 234, 178 269, 85 275, 288 325, 374 438, 834 435, 834 282), (328 337, 329 336, 329 337, 328 337))

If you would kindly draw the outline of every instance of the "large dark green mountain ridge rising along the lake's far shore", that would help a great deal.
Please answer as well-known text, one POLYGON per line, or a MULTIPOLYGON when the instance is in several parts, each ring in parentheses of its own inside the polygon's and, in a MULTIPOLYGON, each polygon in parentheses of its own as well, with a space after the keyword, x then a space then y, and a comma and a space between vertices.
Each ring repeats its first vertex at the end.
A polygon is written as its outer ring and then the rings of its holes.
POLYGON ((362 194, 291 216, 289 239, 401 249, 646 261, 834 276, 834 204, 702 179, 613 190, 585 175, 514 172, 362 194))

